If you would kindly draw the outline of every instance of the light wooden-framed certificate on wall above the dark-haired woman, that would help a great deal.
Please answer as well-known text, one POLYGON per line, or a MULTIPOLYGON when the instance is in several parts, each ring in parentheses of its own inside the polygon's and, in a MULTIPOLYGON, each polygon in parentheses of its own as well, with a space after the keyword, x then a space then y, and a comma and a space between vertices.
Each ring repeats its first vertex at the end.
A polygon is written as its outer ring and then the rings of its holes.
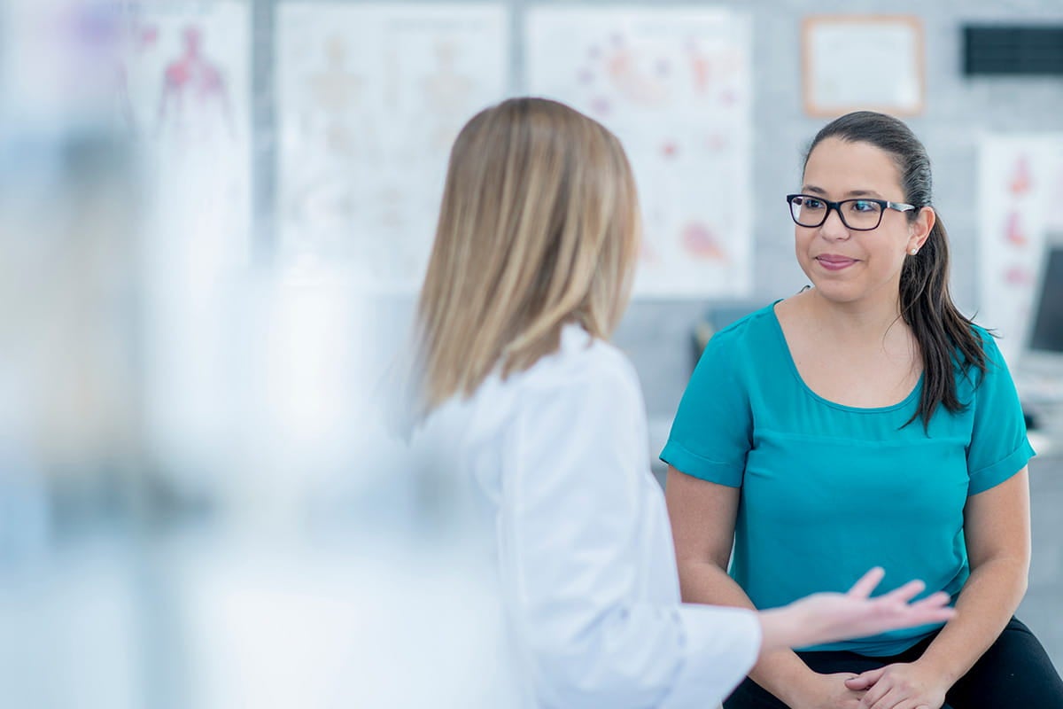
POLYGON ((812 15, 802 23, 805 113, 923 112, 923 23, 914 15, 812 15))

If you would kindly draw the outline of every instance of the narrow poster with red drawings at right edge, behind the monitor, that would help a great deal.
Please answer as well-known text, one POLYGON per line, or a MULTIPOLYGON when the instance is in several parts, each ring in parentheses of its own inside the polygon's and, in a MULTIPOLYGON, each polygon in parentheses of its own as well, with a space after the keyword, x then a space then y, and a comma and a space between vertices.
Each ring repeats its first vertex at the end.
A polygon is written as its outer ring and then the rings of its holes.
POLYGON ((984 137, 978 196, 978 320, 1014 361, 1029 337, 1046 240, 1063 233, 1063 134, 984 137))

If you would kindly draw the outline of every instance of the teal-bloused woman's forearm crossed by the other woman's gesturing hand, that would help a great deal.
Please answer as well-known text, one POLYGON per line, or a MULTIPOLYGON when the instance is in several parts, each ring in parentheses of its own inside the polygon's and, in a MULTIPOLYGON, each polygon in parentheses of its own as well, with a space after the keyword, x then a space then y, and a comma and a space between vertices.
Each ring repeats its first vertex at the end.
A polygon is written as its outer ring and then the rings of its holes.
MULTIPOLYGON (((679 574, 682 600, 715 606, 732 606, 756 610, 749 596, 733 578, 719 565, 708 561, 680 563, 679 574)), ((772 612, 772 611, 770 611, 772 612)), ((786 647, 775 646, 772 620, 762 617, 763 646, 749 677, 782 702, 790 704, 788 691, 802 685, 812 674, 797 655, 786 647)))

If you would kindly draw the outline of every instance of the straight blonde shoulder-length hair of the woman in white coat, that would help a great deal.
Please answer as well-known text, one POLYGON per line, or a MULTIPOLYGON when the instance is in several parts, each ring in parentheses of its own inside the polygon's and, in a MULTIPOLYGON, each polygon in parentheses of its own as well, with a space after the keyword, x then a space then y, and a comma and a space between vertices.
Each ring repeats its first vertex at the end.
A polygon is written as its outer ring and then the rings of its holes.
POLYGON ((577 322, 607 339, 639 240, 620 141, 556 101, 510 99, 461 130, 417 310, 422 412, 526 370, 577 322))

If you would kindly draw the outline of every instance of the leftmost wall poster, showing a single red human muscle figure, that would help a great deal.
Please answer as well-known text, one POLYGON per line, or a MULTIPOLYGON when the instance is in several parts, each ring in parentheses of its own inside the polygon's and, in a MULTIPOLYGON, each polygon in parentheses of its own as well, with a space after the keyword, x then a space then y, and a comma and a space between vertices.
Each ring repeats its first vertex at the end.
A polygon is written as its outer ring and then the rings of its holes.
POLYGON ((148 258, 178 287, 248 264, 251 221, 250 3, 125 5, 115 114, 146 156, 148 258))

